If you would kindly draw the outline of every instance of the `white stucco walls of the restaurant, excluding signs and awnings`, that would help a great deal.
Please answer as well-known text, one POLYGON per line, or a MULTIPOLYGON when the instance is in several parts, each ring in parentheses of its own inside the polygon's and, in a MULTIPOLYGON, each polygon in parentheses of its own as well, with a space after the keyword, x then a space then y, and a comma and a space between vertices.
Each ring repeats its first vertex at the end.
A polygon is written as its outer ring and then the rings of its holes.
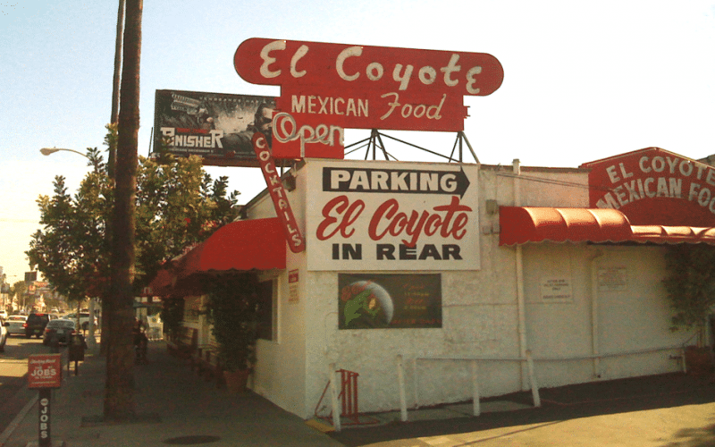
MULTIPOLYGON (((299 170, 298 188, 290 193, 302 231, 308 203, 307 171, 299 170)), ((329 365, 334 363, 336 368, 359 374, 361 412, 397 409, 396 357, 400 354, 408 405, 469 400, 467 362, 419 358, 519 355, 516 249, 499 246, 499 214, 489 211, 487 200, 500 206, 588 207, 587 182, 587 172, 578 169, 525 168, 522 177, 515 180, 510 164, 482 167, 481 269, 438 272, 442 274, 442 328, 339 330, 339 273, 307 271, 305 255, 288 252, 288 266, 277 277, 279 336, 273 342, 259 342, 254 389, 300 417, 312 417, 328 382, 329 365), (288 283, 291 270, 299 272, 297 302, 296 286, 291 292, 288 283), (293 301, 289 302, 291 296, 293 301)), ((248 211, 250 218, 275 215, 267 195, 255 200, 248 211)), ((588 356, 593 352, 592 264, 596 271, 626 266, 628 272, 627 290, 599 291, 595 296, 597 348, 601 353, 672 346, 687 337, 669 332, 669 309, 660 284, 663 249, 546 242, 526 244, 522 250, 526 348, 533 350, 535 358, 588 356), (597 254, 601 256, 595 257, 597 254), (567 279, 570 298, 544 302, 544 278, 567 279)), ((537 362, 536 375, 542 386, 556 386, 598 380, 597 374, 603 379, 656 374, 677 370, 677 362, 668 358, 670 353, 602 358, 598 372, 591 359, 537 362)), ((514 362, 480 362, 478 375, 483 396, 519 391, 526 383, 521 366, 514 362)), ((323 406, 329 407, 329 395, 323 406)))

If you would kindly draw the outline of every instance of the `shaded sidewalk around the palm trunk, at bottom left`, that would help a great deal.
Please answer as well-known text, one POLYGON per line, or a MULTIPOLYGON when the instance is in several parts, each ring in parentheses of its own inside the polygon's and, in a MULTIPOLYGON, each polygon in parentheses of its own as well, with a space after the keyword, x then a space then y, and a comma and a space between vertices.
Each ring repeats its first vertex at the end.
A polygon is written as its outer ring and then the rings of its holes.
MULTIPOLYGON (((204 381, 181 360, 169 356, 164 342, 150 342, 147 357, 148 365, 135 367, 139 422, 134 424, 93 423, 102 415, 105 358, 87 356, 80 362, 79 375, 74 375, 73 365, 71 375, 66 375, 65 367, 63 386, 52 399, 53 445, 342 445, 253 392, 231 395, 216 389, 213 382, 204 381)), ((2 447, 37 443, 35 403, 2 447)))

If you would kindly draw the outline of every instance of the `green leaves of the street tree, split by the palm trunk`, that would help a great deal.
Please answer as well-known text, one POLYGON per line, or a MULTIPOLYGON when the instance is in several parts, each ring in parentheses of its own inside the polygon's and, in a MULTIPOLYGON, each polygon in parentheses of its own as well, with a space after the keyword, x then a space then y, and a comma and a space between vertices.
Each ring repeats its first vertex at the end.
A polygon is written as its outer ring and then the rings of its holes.
MULTIPOLYGON (((107 126, 105 144, 116 145, 116 127, 107 126)), ((110 224, 114 182, 97 148, 88 148, 93 170, 71 196, 62 176, 52 197, 40 196, 40 223, 32 235, 29 265, 68 298, 103 297, 110 277, 110 224)), ((136 271, 140 291, 162 264, 206 240, 239 214, 238 192, 227 195, 225 177, 213 181, 200 158, 163 157, 163 164, 139 157, 136 208, 136 271)))

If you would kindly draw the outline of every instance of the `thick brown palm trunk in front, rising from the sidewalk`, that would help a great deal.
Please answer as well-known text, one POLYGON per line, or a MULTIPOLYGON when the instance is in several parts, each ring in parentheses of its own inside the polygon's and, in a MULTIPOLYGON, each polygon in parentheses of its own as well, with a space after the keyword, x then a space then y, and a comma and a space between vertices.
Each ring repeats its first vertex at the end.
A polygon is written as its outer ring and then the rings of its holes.
POLYGON ((126 1, 126 25, 116 156, 109 349, 106 357, 105 420, 135 417, 134 276, 135 197, 139 137, 139 55, 142 0, 126 1))

